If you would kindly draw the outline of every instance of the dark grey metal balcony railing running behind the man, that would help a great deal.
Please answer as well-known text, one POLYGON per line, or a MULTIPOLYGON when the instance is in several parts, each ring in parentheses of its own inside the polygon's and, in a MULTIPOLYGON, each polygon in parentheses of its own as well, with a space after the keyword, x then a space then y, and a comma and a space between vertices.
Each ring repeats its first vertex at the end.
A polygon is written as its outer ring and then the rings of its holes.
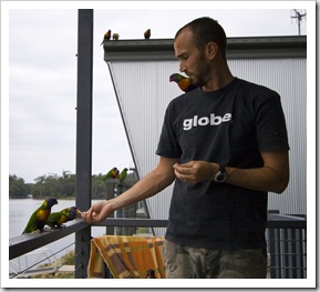
MULTIPOLYGON (((118 219, 109 218, 94 226, 126 228, 166 228, 167 220, 152 219, 118 219)), ((70 222, 62 230, 23 234, 9 241, 9 260, 23 255, 45 244, 54 242, 79 231, 90 230, 82 219, 70 222)), ((91 235, 89 236, 91 240, 91 235)), ((270 213, 266 231, 268 254, 270 256, 269 274, 272 279, 306 279, 307 278, 307 220, 299 215, 270 213)), ((79 250, 86 250, 90 240, 78 242, 79 250)), ((82 252, 76 253, 75 278, 86 278, 87 260, 82 252), (81 269, 79 269, 81 268, 81 269), (78 272, 79 271, 79 272, 78 272)))

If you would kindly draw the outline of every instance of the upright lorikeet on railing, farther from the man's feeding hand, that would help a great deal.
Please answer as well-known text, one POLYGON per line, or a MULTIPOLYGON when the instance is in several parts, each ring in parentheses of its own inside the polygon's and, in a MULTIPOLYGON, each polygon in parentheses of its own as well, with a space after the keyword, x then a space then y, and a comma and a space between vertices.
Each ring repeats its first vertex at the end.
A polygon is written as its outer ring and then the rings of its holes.
POLYGON ((44 200, 43 203, 30 217, 29 222, 25 229, 23 230, 22 234, 31 233, 37 230, 40 230, 40 232, 42 232, 45 225, 45 222, 51 213, 51 208, 54 204, 58 204, 58 201, 55 198, 50 198, 50 199, 44 200))

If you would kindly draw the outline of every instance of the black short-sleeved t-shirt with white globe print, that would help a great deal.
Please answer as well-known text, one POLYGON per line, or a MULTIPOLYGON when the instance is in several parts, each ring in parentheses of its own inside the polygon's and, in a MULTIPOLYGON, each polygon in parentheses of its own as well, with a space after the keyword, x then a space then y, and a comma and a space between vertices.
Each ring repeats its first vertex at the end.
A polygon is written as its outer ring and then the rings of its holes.
MULTIPOLYGON (((156 153, 250 169, 260 152, 289 150, 277 92, 245 80, 193 90, 167 107, 156 153)), ((267 193, 207 180, 175 181, 166 239, 205 249, 265 248, 267 193)))

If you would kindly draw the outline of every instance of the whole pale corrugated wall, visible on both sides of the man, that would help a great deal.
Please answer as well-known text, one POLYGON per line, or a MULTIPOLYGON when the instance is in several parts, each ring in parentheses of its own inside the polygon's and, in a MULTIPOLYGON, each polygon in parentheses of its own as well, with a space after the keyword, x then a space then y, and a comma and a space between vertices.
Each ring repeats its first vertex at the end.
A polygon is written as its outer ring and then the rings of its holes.
MULTIPOLYGON (((157 164, 155 151, 165 109, 173 98, 183 93, 168 81, 178 71, 178 62, 117 61, 109 67, 142 178, 157 164)), ((236 77, 280 93, 289 133, 291 174, 285 193, 269 195, 269 209, 306 213, 306 59, 233 59, 229 67, 236 77)), ((172 188, 147 200, 153 219, 167 219, 171 195, 172 188)))

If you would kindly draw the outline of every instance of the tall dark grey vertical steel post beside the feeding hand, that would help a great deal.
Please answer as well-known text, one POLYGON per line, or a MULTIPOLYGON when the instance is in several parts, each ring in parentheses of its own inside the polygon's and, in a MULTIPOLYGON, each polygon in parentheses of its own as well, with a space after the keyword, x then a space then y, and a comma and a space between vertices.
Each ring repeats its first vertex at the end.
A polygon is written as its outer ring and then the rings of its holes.
MULTIPOLYGON (((93 10, 78 11, 76 205, 91 205, 93 10)), ((91 226, 75 233, 75 278, 86 278, 91 226)))

